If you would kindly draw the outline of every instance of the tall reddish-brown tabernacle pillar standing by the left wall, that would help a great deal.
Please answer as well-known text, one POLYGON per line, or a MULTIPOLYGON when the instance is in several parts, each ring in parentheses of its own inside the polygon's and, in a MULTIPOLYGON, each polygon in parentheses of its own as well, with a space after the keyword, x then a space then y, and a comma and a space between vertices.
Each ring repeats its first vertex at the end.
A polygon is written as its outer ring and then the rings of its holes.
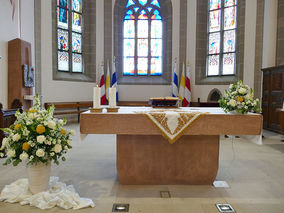
POLYGON ((12 108, 15 99, 19 99, 28 109, 32 106, 31 100, 24 100, 25 95, 33 95, 33 88, 25 86, 24 79, 29 82, 33 74, 25 78, 24 65, 30 68, 32 65, 31 44, 19 38, 8 42, 8 108, 12 108))

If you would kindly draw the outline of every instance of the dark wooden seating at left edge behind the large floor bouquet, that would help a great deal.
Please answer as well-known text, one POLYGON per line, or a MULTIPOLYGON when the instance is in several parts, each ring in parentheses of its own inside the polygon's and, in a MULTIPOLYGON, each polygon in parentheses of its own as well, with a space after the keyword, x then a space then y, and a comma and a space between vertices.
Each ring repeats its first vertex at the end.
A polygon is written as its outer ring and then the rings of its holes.
MULTIPOLYGON (((18 106, 18 108, 15 109, 4 110, 3 105, 0 103, 0 128, 7 128, 15 122, 15 113, 17 110, 20 110, 21 112, 23 111, 21 106, 18 106)), ((2 146, 2 140, 4 137, 5 133, 0 130, 0 147, 2 146)))

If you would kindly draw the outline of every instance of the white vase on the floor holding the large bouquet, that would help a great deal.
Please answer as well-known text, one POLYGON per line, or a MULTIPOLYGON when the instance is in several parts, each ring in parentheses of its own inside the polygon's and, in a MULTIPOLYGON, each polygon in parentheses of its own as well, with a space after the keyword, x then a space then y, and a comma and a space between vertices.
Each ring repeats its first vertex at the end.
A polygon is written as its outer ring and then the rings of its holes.
POLYGON ((50 163, 37 163, 28 167, 29 188, 33 194, 48 189, 50 177, 50 163))

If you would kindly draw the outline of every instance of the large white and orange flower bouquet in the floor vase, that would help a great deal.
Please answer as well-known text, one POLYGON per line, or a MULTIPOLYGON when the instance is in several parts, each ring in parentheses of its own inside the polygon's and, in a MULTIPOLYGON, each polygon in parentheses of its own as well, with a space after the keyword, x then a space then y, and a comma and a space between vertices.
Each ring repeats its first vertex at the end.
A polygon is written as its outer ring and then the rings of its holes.
POLYGON ((17 166, 22 161, 27 165, 52 161, 59 164, 60 158, 66 160, 63 154, 72 148, 70 135, 74 135, 74 131, 65 130, 66 119, 53 118, 53 112, 54 106, 47 110, 40 107, 38 95, 28 111, 16 112, 15 123, 1 129, 8 133, 0 149, 7 153, 4 165, 17 166))

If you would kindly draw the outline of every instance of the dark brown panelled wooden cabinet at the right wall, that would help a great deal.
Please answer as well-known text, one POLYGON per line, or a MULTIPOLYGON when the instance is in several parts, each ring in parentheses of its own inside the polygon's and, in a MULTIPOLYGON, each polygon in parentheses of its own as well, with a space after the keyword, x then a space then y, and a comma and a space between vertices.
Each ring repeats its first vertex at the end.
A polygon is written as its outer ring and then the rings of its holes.
POLYGON ((280 125, 280 112, 284 98, 284 65, 262 69, 263 128, 284 133, 280 125))

